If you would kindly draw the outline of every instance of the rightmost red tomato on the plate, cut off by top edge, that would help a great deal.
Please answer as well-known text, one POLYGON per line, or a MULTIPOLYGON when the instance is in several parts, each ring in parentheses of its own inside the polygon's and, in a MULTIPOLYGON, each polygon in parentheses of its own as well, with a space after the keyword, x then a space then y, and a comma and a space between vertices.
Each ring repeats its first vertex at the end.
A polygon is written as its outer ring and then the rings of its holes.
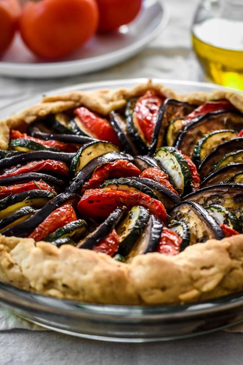
POLYGON ((105 33, 128 24, 137 16, 142 0, 96 0, 99 8, 98 32, 105 33))

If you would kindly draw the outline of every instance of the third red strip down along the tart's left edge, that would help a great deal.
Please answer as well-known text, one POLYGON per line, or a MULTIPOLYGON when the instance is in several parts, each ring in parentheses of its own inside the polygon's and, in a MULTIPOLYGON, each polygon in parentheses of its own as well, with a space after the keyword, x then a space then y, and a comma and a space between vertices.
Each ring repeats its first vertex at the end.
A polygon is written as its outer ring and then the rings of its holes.
POLYGON ((38 190, 38 189, 55 191, 51 186, 49 186, 44 181, 30 181, 25 184, 0 186, 0 199, 8 197, 9 195, 24 193, 24 191, 38 190))

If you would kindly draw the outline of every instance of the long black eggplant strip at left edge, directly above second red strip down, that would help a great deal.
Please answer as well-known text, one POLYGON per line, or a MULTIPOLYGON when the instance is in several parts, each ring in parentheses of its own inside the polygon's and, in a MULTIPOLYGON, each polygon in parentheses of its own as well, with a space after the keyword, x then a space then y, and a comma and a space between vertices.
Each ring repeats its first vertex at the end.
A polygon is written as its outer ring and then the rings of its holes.
POLYGON ((6 157, 3 160, 0 160, 0 168, 11 167, 18 164, 25 164, 31 161, 39 161, 39 160, 55 160, 71 163, 75 153, 67 153, 67 152, 53 152, 53 151, 35 151, 35 152, 26 152, 21 153, 17 156, 6 157))

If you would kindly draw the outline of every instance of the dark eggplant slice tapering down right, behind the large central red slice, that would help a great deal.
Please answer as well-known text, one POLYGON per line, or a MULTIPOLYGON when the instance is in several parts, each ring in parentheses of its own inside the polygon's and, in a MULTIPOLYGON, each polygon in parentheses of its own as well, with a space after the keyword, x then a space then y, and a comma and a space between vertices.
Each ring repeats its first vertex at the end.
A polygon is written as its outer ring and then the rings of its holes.
POLYGON ((154 191, 154 194, 157 196, 157 199, 164 204, 166 210, 171 209, 174 205, 179 204, 181 201, 178 195, 173 193, 173 191, 171 191, 164 185, 157 183, 156 181, 147 178, 132 179, 150 187, 154 191))

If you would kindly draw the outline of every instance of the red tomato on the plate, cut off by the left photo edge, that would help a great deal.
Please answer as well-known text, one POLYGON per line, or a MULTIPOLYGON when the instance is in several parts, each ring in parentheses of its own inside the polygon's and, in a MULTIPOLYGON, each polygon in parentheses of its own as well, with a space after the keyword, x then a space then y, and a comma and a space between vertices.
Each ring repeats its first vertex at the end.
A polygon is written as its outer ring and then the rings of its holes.
POLYGON ((0 0, 0 53, 12 42, 20 14, 21 6, 17 0, 0 0))

